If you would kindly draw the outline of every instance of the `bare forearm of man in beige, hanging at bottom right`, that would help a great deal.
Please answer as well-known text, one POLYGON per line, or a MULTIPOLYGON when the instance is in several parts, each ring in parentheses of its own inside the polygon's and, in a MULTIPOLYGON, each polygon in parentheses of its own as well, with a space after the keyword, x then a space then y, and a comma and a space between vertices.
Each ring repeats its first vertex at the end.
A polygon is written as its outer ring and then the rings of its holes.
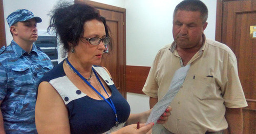
POLYGON ((227 108, 225 118, 228 123, 229 133, 243 133, 243 111, 242 108, 227 108))

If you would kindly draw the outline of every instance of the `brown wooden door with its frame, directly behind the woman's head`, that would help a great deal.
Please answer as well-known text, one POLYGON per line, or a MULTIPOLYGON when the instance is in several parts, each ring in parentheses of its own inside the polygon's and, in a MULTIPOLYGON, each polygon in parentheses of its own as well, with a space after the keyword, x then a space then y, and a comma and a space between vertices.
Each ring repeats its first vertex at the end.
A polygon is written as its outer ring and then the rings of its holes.
POLYGON ((106 18, 106 24, 113 38, 113 46, 109 53, 103 54, 100 65, 109 70, 118 91, 126 98, 125 9, 86 0, 76 0, 75 3, 77 2, 96 7, 100 15, 106 18))

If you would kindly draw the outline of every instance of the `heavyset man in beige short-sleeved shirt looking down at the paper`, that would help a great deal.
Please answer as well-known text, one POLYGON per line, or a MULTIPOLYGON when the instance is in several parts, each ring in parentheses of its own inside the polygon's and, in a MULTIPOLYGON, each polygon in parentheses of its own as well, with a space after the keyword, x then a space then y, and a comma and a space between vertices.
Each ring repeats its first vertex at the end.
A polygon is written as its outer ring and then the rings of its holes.
POLYGON ((237 59, 225 45, 205 37, 208 9, 199 0, 185 0, 174 11, 174 42, 159 50, 143 92, 152 108, 166 94, 174 73, 190 64, 170 106, 172 115, 153 133, 243 132, 242 107, 247 106, 237 59))

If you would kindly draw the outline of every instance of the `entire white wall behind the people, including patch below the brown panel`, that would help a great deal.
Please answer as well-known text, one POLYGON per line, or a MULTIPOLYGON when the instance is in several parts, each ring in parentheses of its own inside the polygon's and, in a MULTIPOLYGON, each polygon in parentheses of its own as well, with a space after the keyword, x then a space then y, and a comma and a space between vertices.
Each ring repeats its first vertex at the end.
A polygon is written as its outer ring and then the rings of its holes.
MULTIPOLYGON (((12 36, 6 17, 16 9, 26 8, 42 18, 37 24, 38 31, 46 31, 50 17, 49 11, 59 0, 4 0, 6 23, 6 40, 9 44, 12 36)), ((69 0, 73 1, 73 0, 69 0)), ((175 6, 181 0, 92 0, 126 9, 126 64, 151 66, 158 50, 173 41, 172 21, 175 6)), ((202 0, 209 10, 208 26, 205 34, 215 39, 216 0, 202 0)), ((149 109, 149 98, 146 95, 127 93, 127 101, 132 113, 149 109)))

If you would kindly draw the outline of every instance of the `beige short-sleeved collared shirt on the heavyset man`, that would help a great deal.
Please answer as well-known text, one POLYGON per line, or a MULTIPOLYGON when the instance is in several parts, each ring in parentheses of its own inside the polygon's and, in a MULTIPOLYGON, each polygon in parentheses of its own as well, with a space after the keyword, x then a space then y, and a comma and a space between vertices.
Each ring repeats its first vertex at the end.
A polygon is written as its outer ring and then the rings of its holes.
MULTIPOLYGON (((247 106, 236 56, 225 44, 206 39, 187 64, 191 64, 190 69, 170 104, 172 115, 164 127, 173 133, 205 133, 227 128, 225 107, 247 106)), ((159 50, 142 91, 160 100, 181 66, 176 43, 165 46, 159 50)))

